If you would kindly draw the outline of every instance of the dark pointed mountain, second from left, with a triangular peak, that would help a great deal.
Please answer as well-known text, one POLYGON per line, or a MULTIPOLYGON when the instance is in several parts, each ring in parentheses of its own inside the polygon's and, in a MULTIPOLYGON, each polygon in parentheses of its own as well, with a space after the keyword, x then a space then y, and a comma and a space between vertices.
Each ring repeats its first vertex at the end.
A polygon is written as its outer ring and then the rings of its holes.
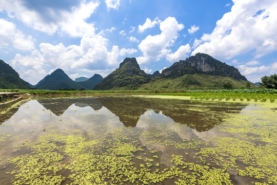
POLYGON ((60 88, 80 89, 82 85, 71 80, 62 69, 56 69, 51 75, 47 75, 39 81, 35 87, 37 89, 58 90, 60 88))

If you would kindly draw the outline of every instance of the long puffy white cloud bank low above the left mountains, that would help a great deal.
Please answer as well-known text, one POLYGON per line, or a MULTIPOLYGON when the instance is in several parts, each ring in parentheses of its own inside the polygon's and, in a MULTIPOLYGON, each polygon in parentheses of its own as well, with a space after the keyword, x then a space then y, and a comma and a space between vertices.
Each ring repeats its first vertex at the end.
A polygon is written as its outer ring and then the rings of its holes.
POLYGON ((40 50, 25 56, 16 54, 10 63, 24 80, 32 84, 36 84, 56 68, 62 68, 73 77, 76 70, 88 76, 95 72, 107 75, 118 66, 119 57, 137 52, 133 48, 118 49, 118 46, 113 46, 108 51, 107 41, 102 35, 96 34, 84 36, 80 45, 66 47, 62 43, 41 43, 40 50))

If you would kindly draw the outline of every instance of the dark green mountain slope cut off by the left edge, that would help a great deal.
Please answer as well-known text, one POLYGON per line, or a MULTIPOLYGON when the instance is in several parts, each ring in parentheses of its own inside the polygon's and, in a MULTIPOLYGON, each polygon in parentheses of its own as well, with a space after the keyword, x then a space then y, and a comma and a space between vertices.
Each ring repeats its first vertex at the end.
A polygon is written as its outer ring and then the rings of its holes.
POLYGON ((27 82, 22 80, 18 73, 3 60, 0 60, 0 88, 3 89, 30 89, 27 82))

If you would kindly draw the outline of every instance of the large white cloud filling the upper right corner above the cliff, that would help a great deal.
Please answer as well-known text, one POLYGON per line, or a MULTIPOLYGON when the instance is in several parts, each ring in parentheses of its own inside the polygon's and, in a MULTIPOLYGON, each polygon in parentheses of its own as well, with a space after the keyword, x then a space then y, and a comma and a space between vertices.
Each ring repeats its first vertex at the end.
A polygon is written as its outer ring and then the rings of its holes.
POLYGON ((208 53, 213 57, 231 59, 254 52, 255 58, 277 50, 277 2, 235 1, 210 34, 203 34, 201 43, 192 52, 208 53))

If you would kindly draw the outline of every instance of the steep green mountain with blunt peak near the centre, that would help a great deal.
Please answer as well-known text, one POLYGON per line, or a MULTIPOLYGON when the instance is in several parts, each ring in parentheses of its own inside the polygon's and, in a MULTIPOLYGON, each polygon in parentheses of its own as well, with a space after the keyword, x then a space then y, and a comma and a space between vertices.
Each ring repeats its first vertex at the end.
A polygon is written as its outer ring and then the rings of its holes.
POLYGON ((101 83, 95 85, 94 90, 131 89, 149 81, 150 76, 141 70, 136 59, 126 58, 119 68, 112 71, 101 83))

